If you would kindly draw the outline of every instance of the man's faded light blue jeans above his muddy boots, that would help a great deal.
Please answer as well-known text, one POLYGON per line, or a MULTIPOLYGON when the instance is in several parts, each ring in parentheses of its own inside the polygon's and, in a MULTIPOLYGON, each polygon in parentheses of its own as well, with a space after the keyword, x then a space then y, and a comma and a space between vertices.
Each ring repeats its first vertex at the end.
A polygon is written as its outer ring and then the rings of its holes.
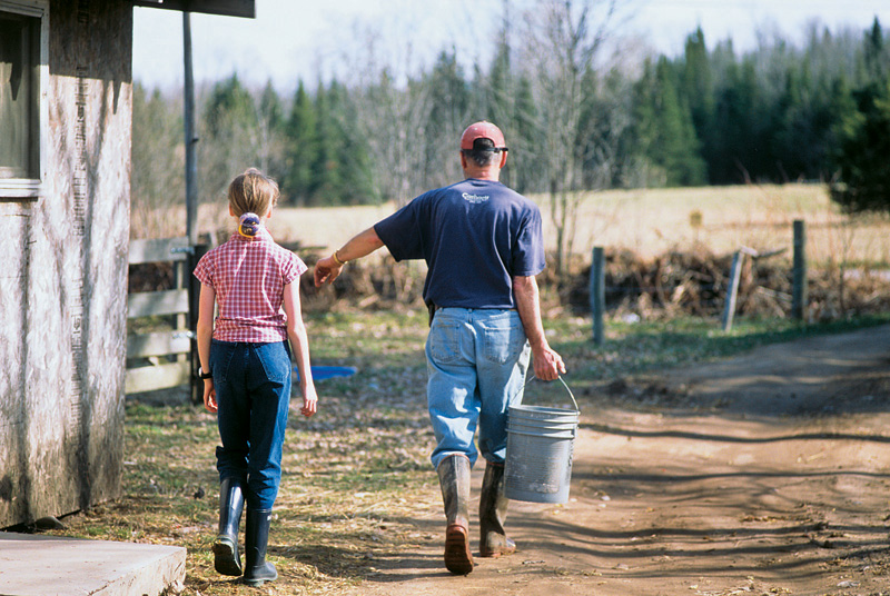
POLYGON ((442 308, 426 340, 427 406, 436 448, 433 466, 461 454, 475 464, 478 449, 503 464, 507 408, 522 400, 531 348, 515 310, 442 308))

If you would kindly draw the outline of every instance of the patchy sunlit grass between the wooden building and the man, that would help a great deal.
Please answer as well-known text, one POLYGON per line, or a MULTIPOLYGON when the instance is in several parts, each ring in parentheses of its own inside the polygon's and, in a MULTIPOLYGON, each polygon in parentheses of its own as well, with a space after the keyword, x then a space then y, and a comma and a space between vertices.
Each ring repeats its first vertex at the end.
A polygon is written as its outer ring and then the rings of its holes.
MULTIPOLYGON (((409 524, 439 508, 424 316, 330 316, 309 327, 315 364, 360 375, 320 381, 310 419, 291 400, 269 546, 280 579, 264 594, 337 594, 374 574, 376 557, 439 538, 409 524)), ((68 529, 53 534, 184 546, 186 595, 257 594, 212 568, 219 438, 215 416, 184 404, 185 393, 130 396, 123 497, 65 518, 68 529)))

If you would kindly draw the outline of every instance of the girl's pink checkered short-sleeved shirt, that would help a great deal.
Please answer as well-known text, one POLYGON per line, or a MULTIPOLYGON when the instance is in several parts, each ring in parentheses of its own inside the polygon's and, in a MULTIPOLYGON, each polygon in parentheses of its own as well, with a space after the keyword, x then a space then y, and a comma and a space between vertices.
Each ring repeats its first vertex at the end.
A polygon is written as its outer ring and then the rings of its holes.
POLYGON ((195 277, 212 286, 219 311, 214 339, 268 344, 287 339, 281 308, 284 287, 306 271, 306 264, 276 245, 261 228, 253 239, 234 234, 201 257, 195 277))

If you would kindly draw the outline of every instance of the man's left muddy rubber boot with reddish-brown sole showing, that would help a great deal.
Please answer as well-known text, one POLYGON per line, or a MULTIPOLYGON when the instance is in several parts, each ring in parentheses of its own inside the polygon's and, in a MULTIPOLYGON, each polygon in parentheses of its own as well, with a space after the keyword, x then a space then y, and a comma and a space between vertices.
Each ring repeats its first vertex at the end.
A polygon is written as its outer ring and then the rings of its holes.
POLYGON ((469 459, 455 455, 443 459, 437 470, 445 504, 445 567, 453 574, 467 575, 473 570, 469 552, 469 459))

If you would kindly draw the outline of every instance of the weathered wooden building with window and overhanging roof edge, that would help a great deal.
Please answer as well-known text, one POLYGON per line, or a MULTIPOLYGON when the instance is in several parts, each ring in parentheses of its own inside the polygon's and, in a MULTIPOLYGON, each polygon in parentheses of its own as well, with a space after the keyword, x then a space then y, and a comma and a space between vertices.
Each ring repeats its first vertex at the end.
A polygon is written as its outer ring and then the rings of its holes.
POLYGON ((0 527, 120 493, 134 6, 0 0, 0 527))

